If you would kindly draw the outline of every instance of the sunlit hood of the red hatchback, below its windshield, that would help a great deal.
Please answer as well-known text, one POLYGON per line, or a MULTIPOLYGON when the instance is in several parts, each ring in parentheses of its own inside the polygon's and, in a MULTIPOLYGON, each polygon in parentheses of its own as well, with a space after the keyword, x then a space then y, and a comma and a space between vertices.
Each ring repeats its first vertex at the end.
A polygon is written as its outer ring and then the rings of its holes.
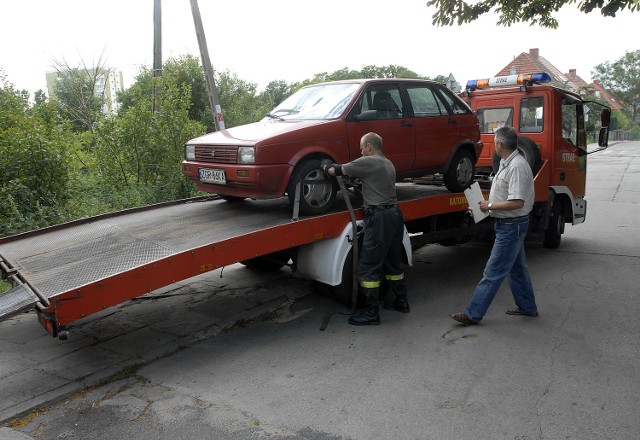
MULTIPOLYGON (((197 145, 241 145, 250 146, 264 141, 292 133, 308 127, 326 124, 328 120, 310 121, 260 121, 253 124, 240 125, 225 130, 205 134, 187 142, 197 145)), ((270 143, 270 142, 266 142, 270 143)))

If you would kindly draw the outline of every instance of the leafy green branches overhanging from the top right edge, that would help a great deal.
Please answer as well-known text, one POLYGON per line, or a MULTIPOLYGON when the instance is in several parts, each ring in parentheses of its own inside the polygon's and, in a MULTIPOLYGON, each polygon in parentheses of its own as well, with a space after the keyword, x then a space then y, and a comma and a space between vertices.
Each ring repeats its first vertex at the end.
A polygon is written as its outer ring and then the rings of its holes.
MULTIPOLYGON (((495 10, 499 15, 498 25, 511 26, 518 22, 529 22, 531 26, 556 29, 558 21, 553 14, 565 4, 572 3, 576 3, 576 0, 483 0, 473 4, 461 0, 428 0, 427 6, 435 6, 437 9, 432 16, 435 26, 460 26, 495 10)), ((585 14, 600 9, 603 16, 615 17, 618 11, 629 9, 635 12, 640 6, 637 0, 581 0, 578 9, 585 14)))

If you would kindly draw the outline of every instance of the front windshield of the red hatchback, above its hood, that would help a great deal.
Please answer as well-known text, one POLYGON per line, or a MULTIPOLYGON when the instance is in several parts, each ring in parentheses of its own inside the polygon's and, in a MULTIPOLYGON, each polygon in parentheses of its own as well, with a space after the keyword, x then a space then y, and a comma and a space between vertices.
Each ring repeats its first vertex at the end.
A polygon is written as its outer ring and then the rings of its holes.
POLYGON ((304 87, 285 99, 267 115, 271 119, 335 119, 344 113, 357 83, 319 84, 304 87))

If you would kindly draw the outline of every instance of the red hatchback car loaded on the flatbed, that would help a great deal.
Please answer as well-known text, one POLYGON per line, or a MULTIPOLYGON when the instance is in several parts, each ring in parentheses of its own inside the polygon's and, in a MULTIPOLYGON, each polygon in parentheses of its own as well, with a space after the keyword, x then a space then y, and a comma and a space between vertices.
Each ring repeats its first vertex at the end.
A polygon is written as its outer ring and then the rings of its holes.
POLYGON ((473 182, 482 150, 477 117, 443 84, 412 79, 303 87, 260 122, 187 142, 182 172, 228 201, 285 194, 293 201, 302 182, 300 212, 320 214, 338 189, 320 161, 354 160, 370 131, 382 136, 398 180, 441 173, 452 192, 473 182))

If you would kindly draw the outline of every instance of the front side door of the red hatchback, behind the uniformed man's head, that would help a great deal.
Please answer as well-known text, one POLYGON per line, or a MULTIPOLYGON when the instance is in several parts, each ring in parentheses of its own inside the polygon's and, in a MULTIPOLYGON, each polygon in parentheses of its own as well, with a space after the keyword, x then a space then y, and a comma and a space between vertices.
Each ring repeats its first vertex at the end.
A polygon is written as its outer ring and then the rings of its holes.
POLYGON ((347 118, 350 160, 360 157, 360 138, 371 131, 382 137, 384 155, 397 173, 410 171, 415 157, 415 127, 407 117, 398 83, 368 85, 347 118), (369 115, 356 120, 357 115, 369 115))

